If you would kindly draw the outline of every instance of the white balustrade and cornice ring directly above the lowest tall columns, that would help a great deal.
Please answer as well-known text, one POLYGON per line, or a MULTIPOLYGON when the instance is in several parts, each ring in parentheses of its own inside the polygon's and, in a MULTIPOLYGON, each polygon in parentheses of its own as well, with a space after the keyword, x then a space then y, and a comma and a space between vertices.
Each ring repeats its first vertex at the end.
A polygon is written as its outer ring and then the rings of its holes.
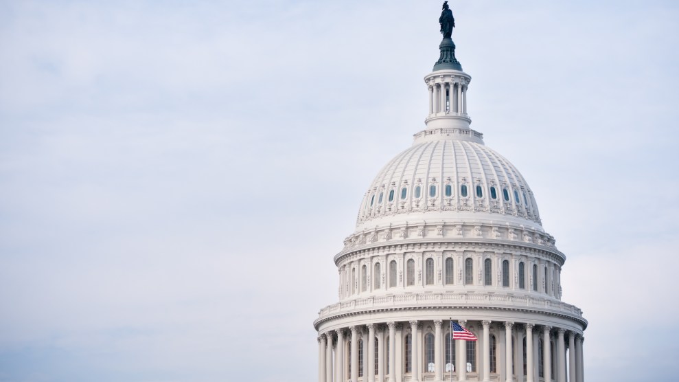
POLYGON ((351 313, 356 309, 365 310, 366 308, 407 307, 423 304, 427 306, 459 305, 539 308, 544 311, 582 317, 582 310, 577 306, 543 297, 498 293, 408 293, 357 298, 356 300, 339 302, 322 308, 321 311, 319 311, 319 318, 336 315, 338 313, 351 313))

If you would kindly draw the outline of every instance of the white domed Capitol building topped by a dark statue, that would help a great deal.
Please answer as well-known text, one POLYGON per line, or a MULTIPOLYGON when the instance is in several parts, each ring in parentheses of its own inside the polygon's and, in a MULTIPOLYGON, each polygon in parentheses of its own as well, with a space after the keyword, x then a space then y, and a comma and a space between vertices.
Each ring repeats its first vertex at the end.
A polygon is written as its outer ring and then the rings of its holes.
POLYGON ((529 183, 470 128, 450 33, 439 50, 424 130, 365 189, 334 256, 338 301, 314 321, 319 382, 583 382, 587 320, 561 300, 566 256, 529 183), (451 322, 478 340, 451 339, 451 322))

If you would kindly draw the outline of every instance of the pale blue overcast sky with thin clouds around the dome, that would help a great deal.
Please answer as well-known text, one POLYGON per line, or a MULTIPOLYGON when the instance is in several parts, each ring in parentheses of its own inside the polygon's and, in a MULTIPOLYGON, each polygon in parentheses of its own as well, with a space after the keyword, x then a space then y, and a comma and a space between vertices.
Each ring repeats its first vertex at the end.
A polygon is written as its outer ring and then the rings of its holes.
MULTIPOLYGON (((679 5, 450 1, 588 381, 679 359, 679 5)), ((0 1, 0 381, 314 381, 332 257, 424 128, 441 1, 0 1)))

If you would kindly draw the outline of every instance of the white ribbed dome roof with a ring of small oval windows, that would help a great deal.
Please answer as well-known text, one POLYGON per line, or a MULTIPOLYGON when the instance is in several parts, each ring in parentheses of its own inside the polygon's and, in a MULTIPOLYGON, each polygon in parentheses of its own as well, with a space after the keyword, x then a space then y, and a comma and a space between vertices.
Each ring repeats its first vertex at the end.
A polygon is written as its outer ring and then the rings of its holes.
POLYGON ((380 170, 356 231, 404 222, 506 222, 542 231, 533 192, 516 167, 470 129, 435 129, 380 170))

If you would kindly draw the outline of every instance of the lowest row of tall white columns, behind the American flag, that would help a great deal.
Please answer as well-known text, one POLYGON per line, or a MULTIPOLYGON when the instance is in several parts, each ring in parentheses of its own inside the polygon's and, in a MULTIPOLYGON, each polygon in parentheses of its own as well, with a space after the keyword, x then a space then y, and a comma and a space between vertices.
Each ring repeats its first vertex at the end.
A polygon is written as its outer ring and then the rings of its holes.
MULTIPOLYGON (((384 324, 370 323, 366 325, 349 326, 337 330, 329 330, 319 335, 319 382, 419 382, 424 381, 424 374, 431 373, 428 368, 425 348, 425 333, 423 333, 423 323, 430 326, 433 323, 434 330, 434 381, 452 381, 454 377, 449 372, 444 374, 444 330, 442 330, 443 320, 433 320, 426 322, 386 322, 384 324), (386 325, 385 325, 386 324, 386 325), (405 333, 410 329, 411 341, 408 342, 409 359, 406 359, 406 344, 404 344, 405 333), (346 337, 349 336, 349 337, 346 337), (358 360, 358 340, 362 338, 362 375, 359 375, 358 360), (389 348, 385 346, 385 341, 389 339, 389 348), (350 351, 345 349, 345 344, 350 346, 350 351), (375 341, 378 341, 377 354, 375 341), (388 352, 386 357, 384 352, 388 352), (377 357, 376 357, 377 356, 377 357), (350 357, 350 359, 347 359, 350 357), (375 360, 377 358, 377 368, 375 360), (387 366, 384 363, 387 362, 387 366), (406 368, 406 364, 408 368, 406 368), (422 366, 422 368, 420 368, 422 366)), ((467 322, 460 321, 462 326, 467 322)), ((498 357, 500 344, 493 348, 490 342, 491 321, 481 321, 481 337, 477 352, 482 353, 481 368, 475 359, 467 359, 467 341, 455 340, 453 346, 457 355, 454 362, 454 369, 457 370, 454 381, 468 381, 467 373, 471 365, 470 372, 474 381, 490 381, 491 372, 497 375, 498 381, 504 377, 505 382, 584 382, 583 357, 582 357, 582 335, 564 328, 553 328, 551 326, 536 326, 536 324, 525 323, 515 324, 514 322, 501 322, 496 329, 503 329, 505 332, 504 356, 498 357), (553 332, 555 335, 553 336, 553 332), (536 332, 536 333, 534 333, 536 332), (538 337, 534 337, 536 334, 538 337), (524 375, 524 351, 523 337, 526 339, 525 364, 526 375, 524 375), (542 359, 539 357, 538 339, 542 335, 542 359), (516 336, 518 341, 513 341, 516 336), (568 341, 568 356, 566 356, 566 337, 568 341), (555 341, 555 353, 552 354, 551 341, 555 341), (496 363, 491 361, 491 351, 494 352, 496 363), (555 357, 555 359, 553 359, 555 357), (566 358, 568 357, 568 370, 566 370, 566 358), (504 359, 502 359, 504 358, 504 359), (472 363, 468 363, 472 361, 472 363), (552 364, 555 364, 552 373, 552 364), (491 370, 494 364, 495 370, 491 370), (538 371, 538 366, 542 365, 542 375, 538 371), (479 370, 480 369, 480 370, 479 370), (551 377, 553 375, 553 378, 551 377)), ((478 325, 477 325, 478 326, 478 325)), ((472 330, 473 331, 473 330, 472 330)), ((479 331, 479 330, 477 330, 479 331)), ((498 334, 498 333, 496 333, 498 334)), ((479 333, 476 333, 479 336, 479 333)), ((431 375, 431 374, 428 374, 431 375)), ((428 377, 431 378, 431 377, 428 377)), ((496 379, 494 379, 496 380, 496 379)))

